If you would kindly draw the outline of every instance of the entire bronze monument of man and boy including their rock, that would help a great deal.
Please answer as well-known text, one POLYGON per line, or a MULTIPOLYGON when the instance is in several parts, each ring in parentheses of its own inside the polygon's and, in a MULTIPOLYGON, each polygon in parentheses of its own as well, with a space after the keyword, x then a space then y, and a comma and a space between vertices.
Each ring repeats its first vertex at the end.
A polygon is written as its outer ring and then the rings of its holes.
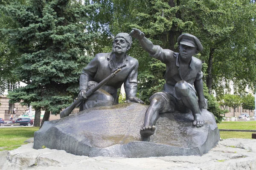
MULTIPOLYGON (((215 147, 220 139, 218 126, 213 114, 206 109, 201 109, 204 105, 201 61, 192 57, 192 54, 202 50, 199 40, 192 35, 183 34, 178 39, 179 54, 153 45, 140 30, 134 29, 131 35, 139 38, 143 48, 152 57, 161 59, 162 62, 166 63, 166 85, 163 92, 151 96, 149 107, 140 103, 124 103, 115 106, 96 107, 72 114, 64 119, 47 121, 40 130, 35 132, 35 149, 41 149, 42 146, 45 146, 50 149, 65 150, 76 155, 137 158, 203 155, 215 147), (192 86, 193 83, 195 88, 192 86), (198 93, 198 101, 195 91, 198 93), (182 111, 182 113, 160 114, 160 119, 157 119, 159 113, 172 112, 175 109, 182 111), (193 116, 189 111, 190 109, 193 116), (182 114, 184 116, 180 116, 182 114), (74 122, 76 123, 74 124, 74 122), (192 128, 192 122, 198 127, 203 125, 204 127, 192 128), (138 129, 143 123, 144 127, 139 133, 138 129), (154 123, 157 125, 155 131, 154 123), (151 136, 154 132, 154 136, 151 136)), ((112 93, 115 91, 111 91, 111 89, 118 88, 117 85, 121 86, 122 82, 126 84, 127 99, 135 102, 141 101, 135 97, 138 62, 132 57, 125 56, 125 49, 131 45, 131 37, 125 36, 127 34, 115 39, 113 53, 97 54, 88 68, 84 69, 81 75, 80 88, 81 91, 84 89, 86 92, 85 96, 79 97, 85 99, 85 107, 93 106, 91 104, 98 102, 99 104, 113 104, 116 98, 115 93, 112 93), (125 39, 128 40, 127 46, 125 39), (124 62, 116 64, 120 56, 124 58, 119 61, 124 62), (110 75, 119 68, 122 71, 116 74, 113 79, 101 80, 104 75, 110 75), (98 84, 95 85, 97 82, 98 84), (105 82, 107 82, 106 86, 101 86, 105 82), (98 89, 99 86, 102 88, 98 89), (87 91, 89 88, 90 90, 87 91), (95 89, 98 90, 95 91, 95 89), (90 93, 90 91, 95 92, 90 93), (105 98, 111 100, 104 103, 103 99, 105 98), (101 100, 103 101, 101 102, 101 100)), ((77 101, 79 102, 79 99, 77 101)), ((76 104, 76 102, 74 103, 76 104)))

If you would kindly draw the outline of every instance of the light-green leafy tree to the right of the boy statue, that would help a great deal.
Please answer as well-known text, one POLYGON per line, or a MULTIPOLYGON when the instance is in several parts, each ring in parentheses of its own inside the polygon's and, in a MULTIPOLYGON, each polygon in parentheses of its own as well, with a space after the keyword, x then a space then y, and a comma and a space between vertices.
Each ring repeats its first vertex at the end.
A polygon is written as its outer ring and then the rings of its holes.
POLYGON ((192 34, 203 42, 207 87, 217 95, 234 83, 240 92, 255 82, 256 4, 249 0, 189 1, 195 17, 192 34))

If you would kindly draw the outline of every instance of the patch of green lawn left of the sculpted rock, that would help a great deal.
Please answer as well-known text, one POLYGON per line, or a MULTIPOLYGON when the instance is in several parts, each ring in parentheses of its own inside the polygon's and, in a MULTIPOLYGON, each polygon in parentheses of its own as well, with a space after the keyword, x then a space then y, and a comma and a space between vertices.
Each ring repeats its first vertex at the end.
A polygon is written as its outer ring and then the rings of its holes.
POLYGON ((14 150, 23 142, 34 137, 34 132, 39 127, 0 128, 0 151, 14 150))

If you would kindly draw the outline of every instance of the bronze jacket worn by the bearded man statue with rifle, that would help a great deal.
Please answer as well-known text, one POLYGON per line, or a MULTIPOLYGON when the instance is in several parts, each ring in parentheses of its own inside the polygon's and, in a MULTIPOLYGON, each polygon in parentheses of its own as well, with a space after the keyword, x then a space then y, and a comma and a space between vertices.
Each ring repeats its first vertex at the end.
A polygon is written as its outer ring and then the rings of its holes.
POLYGON ((122 83, 124 83, 126 99, 136 97, 138 84, 137 74, 139 67, 138 60, 125 55, 124 62, 114 68, 112 55, 112 53, 96 54, 93 60, 87 65, 86 68, 83 69, 81 73, 80 91, 82 89, 88 89, 89 81, 99 83, 118 68, 121 68, 122 70, 116 75, 116 77, 111 79, 106 85, 102 86, 102 89, 111 94, 116 101, 117 89, 121 88, 122 83))

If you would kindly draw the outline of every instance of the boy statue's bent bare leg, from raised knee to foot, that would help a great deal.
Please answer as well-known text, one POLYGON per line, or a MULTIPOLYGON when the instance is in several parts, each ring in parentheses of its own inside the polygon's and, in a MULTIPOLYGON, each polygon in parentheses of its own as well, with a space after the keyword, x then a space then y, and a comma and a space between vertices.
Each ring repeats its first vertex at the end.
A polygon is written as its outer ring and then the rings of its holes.
POLYGON ((192 111, 194 116, 193 125, 197 127, 204 126, 204 119, 201 116, 198 99, 195 92, 189 88, 188 83, 185 81, 177 82, 175 85, 175 91, 176 95, 181 98, 184 105, 192 111))

